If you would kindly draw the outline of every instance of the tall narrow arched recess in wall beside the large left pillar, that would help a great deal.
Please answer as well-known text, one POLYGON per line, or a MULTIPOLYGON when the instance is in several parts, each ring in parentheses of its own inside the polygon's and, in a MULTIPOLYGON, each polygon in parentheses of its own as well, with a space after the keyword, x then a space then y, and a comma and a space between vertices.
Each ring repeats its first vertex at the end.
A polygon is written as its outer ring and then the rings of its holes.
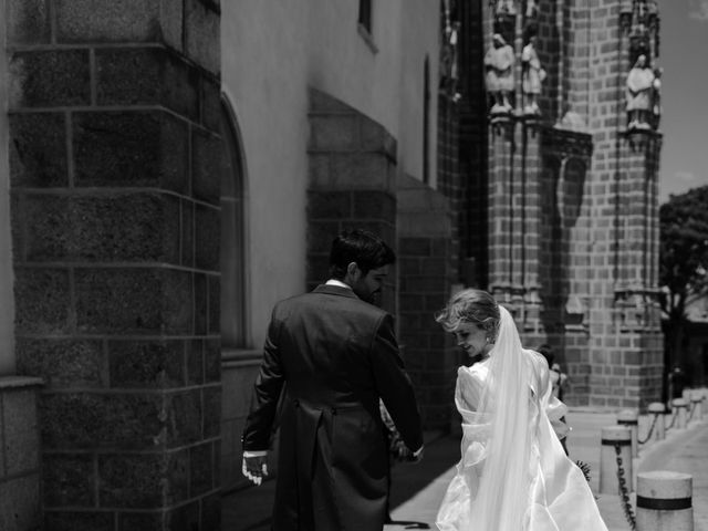
POLYGON ((221 97, 221 348, 247 348, 246 164, 233 108, 221 97))

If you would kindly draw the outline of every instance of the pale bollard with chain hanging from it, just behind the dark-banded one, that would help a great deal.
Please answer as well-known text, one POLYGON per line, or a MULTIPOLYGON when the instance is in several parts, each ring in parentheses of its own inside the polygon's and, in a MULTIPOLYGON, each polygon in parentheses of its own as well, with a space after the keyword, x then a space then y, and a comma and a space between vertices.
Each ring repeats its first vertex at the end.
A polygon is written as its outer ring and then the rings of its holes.
POLYGON ((618 471, 627 491, 632 491, 632 430, 626 426, 606 426, 601 433, 600 493, 622 494, 618 471))

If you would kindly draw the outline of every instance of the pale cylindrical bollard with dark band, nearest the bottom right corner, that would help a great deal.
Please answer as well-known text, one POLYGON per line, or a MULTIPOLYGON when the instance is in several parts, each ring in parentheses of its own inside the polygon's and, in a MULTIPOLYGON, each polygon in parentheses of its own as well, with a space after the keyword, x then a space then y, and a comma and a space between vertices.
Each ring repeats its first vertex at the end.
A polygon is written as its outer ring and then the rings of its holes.
POLYGON ((656 470, 637 475, 637 531, 693 531, 693 478, 656 470))

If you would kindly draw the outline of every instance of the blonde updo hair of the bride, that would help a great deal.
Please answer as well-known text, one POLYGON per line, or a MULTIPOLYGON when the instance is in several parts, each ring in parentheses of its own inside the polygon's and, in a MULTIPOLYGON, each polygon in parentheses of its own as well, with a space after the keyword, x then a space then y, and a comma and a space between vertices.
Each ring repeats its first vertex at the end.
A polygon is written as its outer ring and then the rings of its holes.
POLYGON ((454 332, 460 324, 473 323, 486 330, 493 342, 499 330, 499 304, 486 291, 469 288, 455 293, 435 320, 447 332, 454 332))

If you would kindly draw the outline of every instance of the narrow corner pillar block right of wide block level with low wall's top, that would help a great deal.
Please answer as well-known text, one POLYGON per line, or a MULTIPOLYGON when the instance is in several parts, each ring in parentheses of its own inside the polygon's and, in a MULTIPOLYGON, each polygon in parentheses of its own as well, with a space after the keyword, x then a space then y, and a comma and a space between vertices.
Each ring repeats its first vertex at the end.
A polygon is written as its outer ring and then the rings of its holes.
POLYGON ((184 446, 201 440, 201 424, 205 414, 199 389, 170 393, 166 397, 168 418, 165 440, 167 444, 184 446))

